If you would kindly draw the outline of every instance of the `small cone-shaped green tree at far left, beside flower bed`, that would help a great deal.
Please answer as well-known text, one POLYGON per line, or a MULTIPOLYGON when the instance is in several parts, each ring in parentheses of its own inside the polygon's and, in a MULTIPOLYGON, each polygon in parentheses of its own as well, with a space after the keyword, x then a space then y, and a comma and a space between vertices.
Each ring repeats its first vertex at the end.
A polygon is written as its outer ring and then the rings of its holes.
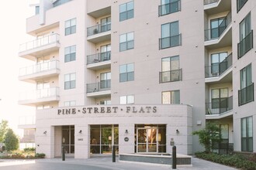
POLYGON ((11 128, 8 128, 5 134, 5 149, 7 151, 13 151, 19 148, 19 139, 11 128))

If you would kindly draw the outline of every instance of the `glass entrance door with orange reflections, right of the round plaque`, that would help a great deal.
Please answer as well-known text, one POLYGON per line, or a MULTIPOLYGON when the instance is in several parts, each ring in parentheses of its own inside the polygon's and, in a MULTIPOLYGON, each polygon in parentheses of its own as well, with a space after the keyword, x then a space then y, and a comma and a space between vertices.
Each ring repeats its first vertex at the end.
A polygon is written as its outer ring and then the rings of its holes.
POLYGON ((157 153, 157 128, 137 129, 137 152, 157 153))

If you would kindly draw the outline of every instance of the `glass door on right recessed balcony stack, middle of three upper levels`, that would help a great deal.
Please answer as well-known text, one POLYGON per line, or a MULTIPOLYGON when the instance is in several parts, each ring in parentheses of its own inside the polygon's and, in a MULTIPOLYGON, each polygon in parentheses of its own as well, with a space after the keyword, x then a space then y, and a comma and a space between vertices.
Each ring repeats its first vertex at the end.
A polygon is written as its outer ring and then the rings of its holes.
POLYGON ((211 73, 213 76, 219 76, 220 63, 227 58, 227 52, 214 53, 211 55, 211 73))

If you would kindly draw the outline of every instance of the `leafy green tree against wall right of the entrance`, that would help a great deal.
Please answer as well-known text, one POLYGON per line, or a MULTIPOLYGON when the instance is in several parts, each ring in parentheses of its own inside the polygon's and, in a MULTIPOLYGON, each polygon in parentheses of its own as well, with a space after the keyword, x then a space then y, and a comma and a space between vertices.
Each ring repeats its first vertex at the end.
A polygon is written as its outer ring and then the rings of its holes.
POLYGON ((193 131, 192 134, 199 136, 199 143, 205 147, 208 153, 213 149, 213 144, 221 141, 220 127, 211 122, 206 122, 206 128, 193 131))

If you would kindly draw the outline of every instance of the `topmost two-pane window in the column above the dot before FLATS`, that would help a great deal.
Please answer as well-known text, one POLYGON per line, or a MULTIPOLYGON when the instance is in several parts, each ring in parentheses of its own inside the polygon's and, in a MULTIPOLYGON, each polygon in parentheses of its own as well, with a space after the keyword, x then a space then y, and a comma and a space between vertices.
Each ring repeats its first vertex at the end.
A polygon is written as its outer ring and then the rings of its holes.
POLYGON ((119 5, 119 21, 126 19, 132 19, 134 13, 134 3, 128 2, 126 4, 119 5))

